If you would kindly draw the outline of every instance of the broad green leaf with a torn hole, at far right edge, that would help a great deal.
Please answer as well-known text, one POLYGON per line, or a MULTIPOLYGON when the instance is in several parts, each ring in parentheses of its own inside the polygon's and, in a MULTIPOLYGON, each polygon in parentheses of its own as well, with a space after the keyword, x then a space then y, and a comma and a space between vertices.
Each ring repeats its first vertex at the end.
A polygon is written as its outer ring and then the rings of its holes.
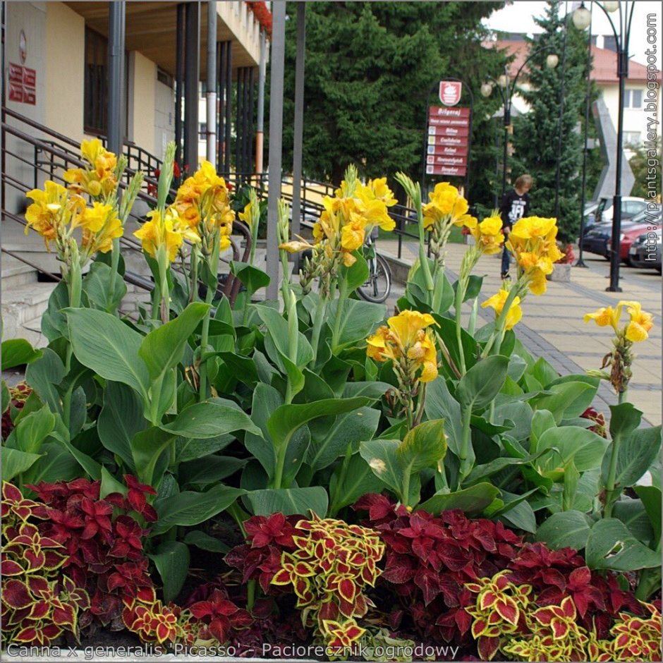
POLYGON ((617 518, 604 518, 592 526, 585 549, 590 568, 638 571, 661 566, 661 555, 640 543, 617 518))

